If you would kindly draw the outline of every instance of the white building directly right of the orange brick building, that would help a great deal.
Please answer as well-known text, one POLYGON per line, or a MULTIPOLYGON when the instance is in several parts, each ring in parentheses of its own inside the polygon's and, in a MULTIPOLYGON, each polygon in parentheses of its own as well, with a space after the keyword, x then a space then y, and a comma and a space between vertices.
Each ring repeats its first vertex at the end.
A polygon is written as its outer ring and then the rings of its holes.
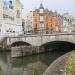
POLYGON ((63 14, 63 32, 71 32, 72 31, 72 16, 68 13, 63 14))

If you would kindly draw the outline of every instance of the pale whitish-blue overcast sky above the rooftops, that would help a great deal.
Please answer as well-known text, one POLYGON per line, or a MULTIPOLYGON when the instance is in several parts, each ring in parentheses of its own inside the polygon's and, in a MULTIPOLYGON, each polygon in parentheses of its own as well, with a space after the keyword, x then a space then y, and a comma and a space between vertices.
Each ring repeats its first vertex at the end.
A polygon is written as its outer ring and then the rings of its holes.
POLYGON ((30 10, 39 8, 40 3, 44 8, 48 8, 52 11, 57 11, 60 14, 68 12, 75 17, 75 0, 21 0, 24 6, 24 12, 27 13, 30 10))

